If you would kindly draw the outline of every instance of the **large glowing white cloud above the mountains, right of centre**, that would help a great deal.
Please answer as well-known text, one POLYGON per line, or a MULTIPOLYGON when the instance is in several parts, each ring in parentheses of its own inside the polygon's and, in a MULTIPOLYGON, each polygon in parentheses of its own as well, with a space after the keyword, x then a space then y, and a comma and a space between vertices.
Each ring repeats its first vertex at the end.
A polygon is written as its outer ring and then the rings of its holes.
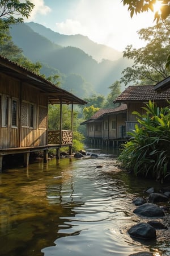
POLYGON ((137 31, 152 26, 150 14, 130 18, 128 7, 114 0, 79 0, 69 10, 69 17, 56 23, 55 31, 61 34, 87 35, 95 42, 124 50, 138 39, 137 31), (145 26, 146 24, 146 26, 145 26))

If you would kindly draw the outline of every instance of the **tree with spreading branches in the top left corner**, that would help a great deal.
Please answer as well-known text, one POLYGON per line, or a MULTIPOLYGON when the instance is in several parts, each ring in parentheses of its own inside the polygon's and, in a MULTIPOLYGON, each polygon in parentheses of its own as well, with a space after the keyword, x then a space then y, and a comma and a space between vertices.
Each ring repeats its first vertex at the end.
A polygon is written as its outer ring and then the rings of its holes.
POLYGON ((10 24, 23 22, 23 18, 28 18, 32 11, 33 3, 26 0, 24 3, 19 0, 0 1, 0 44, 10 38, 8 29, 10 24))

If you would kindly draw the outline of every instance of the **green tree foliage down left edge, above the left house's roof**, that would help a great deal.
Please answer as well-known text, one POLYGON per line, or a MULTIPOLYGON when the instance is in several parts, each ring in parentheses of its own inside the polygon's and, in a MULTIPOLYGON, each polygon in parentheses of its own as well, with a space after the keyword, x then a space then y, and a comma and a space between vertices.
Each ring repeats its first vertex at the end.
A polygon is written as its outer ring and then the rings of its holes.
POLYGON ((30 1, 24 3, 19 0, 0 1, 0 52, 1 56, 40 75, 41 64, 39 62, 32 63, 28 60, 23 55, 23 50, 12 42, 9 33, 9 26, 23 22, 23 18, 28 18, 33 7, 34 5, 30 1))

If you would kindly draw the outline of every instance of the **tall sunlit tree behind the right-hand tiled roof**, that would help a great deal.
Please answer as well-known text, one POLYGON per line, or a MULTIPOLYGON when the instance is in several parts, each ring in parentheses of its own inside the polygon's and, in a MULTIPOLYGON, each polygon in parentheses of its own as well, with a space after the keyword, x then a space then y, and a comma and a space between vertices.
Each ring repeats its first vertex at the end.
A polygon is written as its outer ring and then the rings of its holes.
POLYGON ((134 84, 155 84, 169 75, 167 56, 170 52, 170 19, 162 21, 153 27, 142 28, 138 31, 139 38, 145 40, 146 47, 139 49, 127 46, 124 57, 134 61, 132 67, 124 69, 121 82, 125 85, 129 82, 134 84))

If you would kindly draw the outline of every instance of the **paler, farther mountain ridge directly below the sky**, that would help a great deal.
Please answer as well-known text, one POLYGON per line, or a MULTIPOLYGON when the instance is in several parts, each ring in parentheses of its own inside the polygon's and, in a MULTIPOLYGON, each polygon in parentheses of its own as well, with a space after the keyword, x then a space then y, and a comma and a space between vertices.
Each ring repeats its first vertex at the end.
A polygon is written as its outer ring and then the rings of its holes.
POLYGON ((35 22, 25 24, 31 27, 33 31, 48 38, 53 43, 59 44, 63 47, 73 46, 82 49, 82 51, 86 52, 88 55, 92 56, 93 59, 99 62, 103 59, 114 61, 122 57, 122 52, 116 51, 111 47, 104 46, 103 44, 94 43, 87 36, 61 35, 58 32, 54 32, 50 30, 50 28, 46 28, 35 22))

